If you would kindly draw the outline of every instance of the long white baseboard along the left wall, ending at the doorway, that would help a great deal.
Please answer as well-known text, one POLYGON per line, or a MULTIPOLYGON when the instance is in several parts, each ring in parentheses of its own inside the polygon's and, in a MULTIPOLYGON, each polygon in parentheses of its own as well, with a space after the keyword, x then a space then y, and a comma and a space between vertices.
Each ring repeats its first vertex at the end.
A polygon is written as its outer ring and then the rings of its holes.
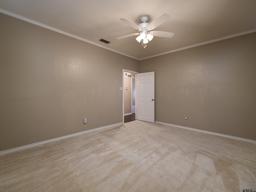
POLYGON ((70 135, 66 135, 66 136, 62 136, 62 137, 58 137, 58 138, 54 138, 54 139, 50 139, 50 140, 46 140, 46 141, 41 141, 41 142, 37 142, 37 143, 28 144, 28 145, 13 148, 13 149, 4 150, 4 151, 0 152, 0 155, 12 153, 12 152, 17 152, 19 150, 23 150, 23 149, 26 149, 26 148, 30 148, 30 147, 34 147, 34 146, 38 146, 38 145, 42 145, 42 144, 46 144, 46 143, 50 143, 50 142, 54 142, 54 141, 74 137, 74 136, 78 136, 78 135, 81 135, 81 134, 86 134, 86 133, 89 133, 89 132, 94 132, 94 131, 97 131, 97 130, 110 129, 110 128, 118 127, 118 126, 121 126, 122 124, 124 124, 124 123, 121 122, 121 123, 117 123, 117 124, 112 124, 112 125, 108 125, 108 126, 104 126, 104 127, 90 129, 90 130, 86 130, 86 131, 83 131, 83 132, 78 132, 78 133, 74 133, 74 134, 70 134, 70 135))

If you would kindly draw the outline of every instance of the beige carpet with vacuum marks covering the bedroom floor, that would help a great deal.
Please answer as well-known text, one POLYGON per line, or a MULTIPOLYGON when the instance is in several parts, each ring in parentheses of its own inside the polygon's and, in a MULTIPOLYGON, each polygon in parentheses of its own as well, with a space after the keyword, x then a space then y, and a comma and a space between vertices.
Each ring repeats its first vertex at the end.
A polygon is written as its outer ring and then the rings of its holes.
POLYGON ((256 191, 256 144, 142 121, 0 156, 1 192, 256 191))

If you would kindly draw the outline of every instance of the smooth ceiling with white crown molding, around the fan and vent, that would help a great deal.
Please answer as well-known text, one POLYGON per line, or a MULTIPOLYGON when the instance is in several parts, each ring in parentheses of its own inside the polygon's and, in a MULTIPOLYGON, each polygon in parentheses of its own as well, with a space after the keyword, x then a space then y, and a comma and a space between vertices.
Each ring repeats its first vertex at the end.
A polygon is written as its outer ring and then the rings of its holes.
POLYGON ((0 8, 138 60, 256 32, 256 0, 0 0, 0 8), (119 18, 140 24, 148 16, 150 23, 164 12, 171 18, 154 30, 173 32, 172 38, 154 37, 146 49, 136 36, 116 39, 137 32, 119 18))

